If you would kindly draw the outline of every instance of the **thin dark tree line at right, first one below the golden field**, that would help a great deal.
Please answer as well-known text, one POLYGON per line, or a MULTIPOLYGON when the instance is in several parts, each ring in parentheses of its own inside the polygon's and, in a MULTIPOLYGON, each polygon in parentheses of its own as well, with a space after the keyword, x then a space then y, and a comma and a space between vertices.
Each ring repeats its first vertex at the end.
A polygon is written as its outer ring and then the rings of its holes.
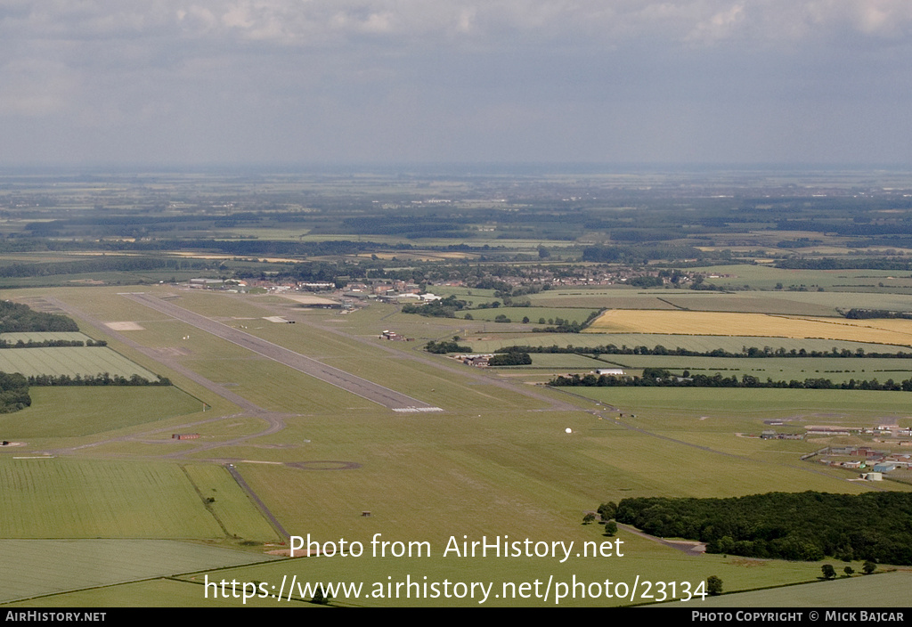
POLYGON ((884 359, 887 357, 908 358, 912 353, 865 353, 864 348, 850 351, 847 348, 839 350, 835 346, 831 351, 814 351, 802 349, 786 350, 784 348, 773 349, 770 346, 757 348, 756 346, 743 346, 740 353, 731 353, 721 348, 714 348, 711 351, 690 351, 686 348, 666 348, 658 344, 652 348, 648 346, 616 346, 615 344, 606 344, 602 346, 523 346, 513 345, 498 348, 495 353, 511 353, 523 351, 524 353, 557 353, 557 354, 575 354, 575 355, 674 355, 680 357, 868 357, 871 359, 884 359))

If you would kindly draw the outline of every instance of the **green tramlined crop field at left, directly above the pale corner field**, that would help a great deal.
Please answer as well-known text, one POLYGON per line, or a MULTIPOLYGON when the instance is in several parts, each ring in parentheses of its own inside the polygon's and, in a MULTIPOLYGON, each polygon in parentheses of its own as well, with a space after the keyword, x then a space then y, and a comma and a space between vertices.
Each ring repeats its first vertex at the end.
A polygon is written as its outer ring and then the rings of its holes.
POLYGON ((223 538, 175 464, 0 458, 6 538, 223 538))

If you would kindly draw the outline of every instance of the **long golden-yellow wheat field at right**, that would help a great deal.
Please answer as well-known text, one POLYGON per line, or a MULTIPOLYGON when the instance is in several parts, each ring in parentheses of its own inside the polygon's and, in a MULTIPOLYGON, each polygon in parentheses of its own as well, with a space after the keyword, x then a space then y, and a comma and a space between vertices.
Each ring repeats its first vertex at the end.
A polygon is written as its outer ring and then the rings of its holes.
POLYGON ((912 320, 847 320, 813 316, 613 309, 588 333, 761 335, 912 345, 912 320))

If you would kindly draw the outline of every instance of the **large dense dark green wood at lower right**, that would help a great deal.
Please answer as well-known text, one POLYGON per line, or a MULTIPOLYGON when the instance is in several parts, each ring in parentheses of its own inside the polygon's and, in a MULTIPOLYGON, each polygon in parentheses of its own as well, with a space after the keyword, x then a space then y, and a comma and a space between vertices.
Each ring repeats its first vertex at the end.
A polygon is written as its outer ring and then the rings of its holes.
POLYGON ((822 492, 736 499, 623 499, 617 521, 710 553, 781 560, 869 560, 912 565, 912 493, 822 492))

